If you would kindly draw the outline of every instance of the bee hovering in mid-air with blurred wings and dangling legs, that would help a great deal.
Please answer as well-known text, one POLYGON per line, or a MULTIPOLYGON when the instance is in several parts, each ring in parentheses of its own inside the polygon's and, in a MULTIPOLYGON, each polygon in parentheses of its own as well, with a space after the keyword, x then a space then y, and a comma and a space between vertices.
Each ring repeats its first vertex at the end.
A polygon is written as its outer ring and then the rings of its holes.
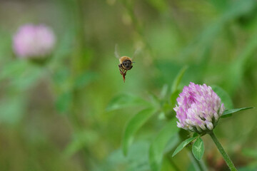
POLYGON ((124 83, 125 83, 125 76, 126 76, 126 72, 131 70, 131 68, 133 68, 132 63, 135 63, 132 61, 132 59, 134 58, 134 56, 136 55, 137 51, 135 51, 134 55, 132 58, 129 58, 129 56, 119 56, 118 53, 118 46, 115 46, 115 51, 114 54, 116 56, 116 58, 119 58, 119 71, 121 73, 121 76, 123 77, 124 83))

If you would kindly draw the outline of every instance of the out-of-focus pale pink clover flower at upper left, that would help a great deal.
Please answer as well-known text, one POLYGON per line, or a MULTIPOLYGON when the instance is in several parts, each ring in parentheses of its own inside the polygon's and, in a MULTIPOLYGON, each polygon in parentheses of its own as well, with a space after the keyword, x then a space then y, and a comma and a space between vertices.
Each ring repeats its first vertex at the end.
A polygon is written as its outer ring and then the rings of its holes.
POLYGON ((25 24, 13 37, 13 48, 20 58, 44 58, 54 48, 56 37, 45 25, 25 24))

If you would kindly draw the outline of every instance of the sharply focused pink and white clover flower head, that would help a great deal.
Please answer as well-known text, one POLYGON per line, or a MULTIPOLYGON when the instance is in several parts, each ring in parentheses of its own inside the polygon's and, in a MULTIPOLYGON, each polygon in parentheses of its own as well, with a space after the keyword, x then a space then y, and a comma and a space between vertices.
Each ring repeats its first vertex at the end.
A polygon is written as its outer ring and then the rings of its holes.
POLYGON ((185 86, 177 102, 178 105, 173 109, 178 118, 178 128, 196 133, 213 130, 225 110, 221 98, 206 84, 190 83, 185 86))

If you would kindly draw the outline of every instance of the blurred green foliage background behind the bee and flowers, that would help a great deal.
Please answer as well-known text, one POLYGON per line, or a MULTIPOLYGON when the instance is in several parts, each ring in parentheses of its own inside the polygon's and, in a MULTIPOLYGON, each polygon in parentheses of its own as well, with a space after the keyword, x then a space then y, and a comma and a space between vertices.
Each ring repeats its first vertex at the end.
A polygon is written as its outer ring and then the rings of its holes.
MULTIPOLYGON (((170 88, 217 85, 234 108, 256 106, 255 0, 1 0, 0 170, 150 170, 148 147, 163 125, 153 116, 138 131, 129 156, 124 127, 141 106, 106 110, 117 95, 149 100, 170 88), (23 24, 46 24, 56 46, 44 63, 15 55, 23 24), (121 56, 133 56, 123 83, 121 56)), ((126 102, 126 100, 125 100, 126 102)), ((256 109, 221 120, 216 135, 241 170, 257 168, 256 109)), ((203 137, 209 170, 226 170, 211 138, 203 137)), ((182 151, 162 170, 193 170, 182 151), (169 166, 171 165, 171 166, 169 166)))

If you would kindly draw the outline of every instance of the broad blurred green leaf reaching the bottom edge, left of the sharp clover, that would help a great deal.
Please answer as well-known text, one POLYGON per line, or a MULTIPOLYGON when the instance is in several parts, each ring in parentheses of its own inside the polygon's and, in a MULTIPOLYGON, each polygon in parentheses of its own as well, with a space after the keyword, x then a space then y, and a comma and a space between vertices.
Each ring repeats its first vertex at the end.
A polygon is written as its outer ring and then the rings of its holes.
MULTIPOLYGON (((163 130, 158 133, 156 139, 151 143, 149 150, 149 162, 153 171, 160 170, 165 147, 169 140, 178 140, 175 138, 176 135, 178 135, 178 130, 179 128, 176 126, 176 118, 173 118, 165 125, 163 130)), ((174 147, 176 143, 172 143, 172 145, 174 147)))

